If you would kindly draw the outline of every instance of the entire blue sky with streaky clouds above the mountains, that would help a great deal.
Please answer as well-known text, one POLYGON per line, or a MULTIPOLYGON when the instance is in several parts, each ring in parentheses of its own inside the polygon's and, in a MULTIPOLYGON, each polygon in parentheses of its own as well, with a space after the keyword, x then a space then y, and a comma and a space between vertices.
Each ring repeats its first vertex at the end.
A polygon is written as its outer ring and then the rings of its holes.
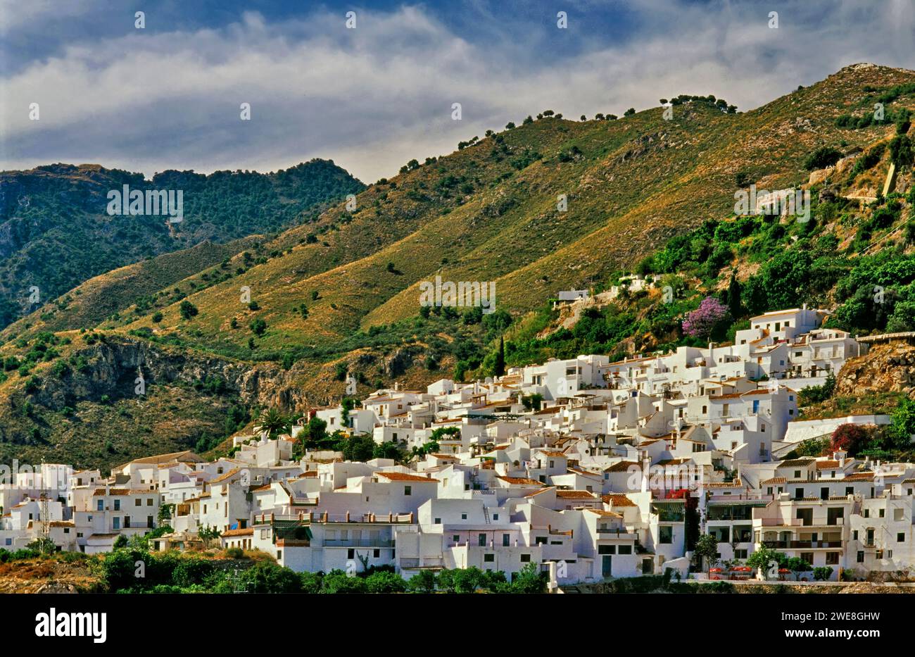
POLYGON ((544 109, 748 110, 862 61, 915 69, 915 0, 0 0, 0 169, 324 157, 371 183, 544 109))

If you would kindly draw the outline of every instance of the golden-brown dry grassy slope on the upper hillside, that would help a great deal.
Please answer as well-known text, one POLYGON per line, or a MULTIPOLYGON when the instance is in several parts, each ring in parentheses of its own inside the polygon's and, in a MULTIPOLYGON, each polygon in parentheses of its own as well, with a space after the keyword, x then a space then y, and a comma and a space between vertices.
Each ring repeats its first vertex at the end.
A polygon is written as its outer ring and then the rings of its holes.
MULTIPOLYGON (((269 326, 265 348, 327 343, 355 328, 414 316, 418 283, 436 274, 454 281, 495 280, 501 307, 529 310, 557 289, 586 285, 634 264, 677 232, 727 216, 738 171, 760 187, 800 184, 807 177, 803 159, 817 146, 842 140, 845 148, 863 146, 891 131, 840 130, 834 119, 861 106, 864 86, 913 78, 900 70, 846 69, 743 114, 690 105, 675 108, 673 122, 655 109, 616 122, 546 119, 521 126, 502 134, 511 153, 501 162, 493 160, 498 145, 488 138, 398 176, 377 216, 372 204, 383 192, 370 188, 360 195, 361 210, 352 221, 328 239, 330 246, 298 247, 191 296, 199 318, 181 322, 176 304, 167 309, 163 326, 190 345, 232 352, 251 337, 247 324, 256 315, 269 326), (581 155, 558 161, 573 145, 581 155), (544 157, 512 173, 508 161, 525 147, 544 157), (479 182, 465 202, 442 214, 453 199, 438 199, 432 190, 448 175, 479 182), (410 193, 429 201, 410 199, 410 193), (561 193, 568 194, 565 213, 555 207, 561 193), (388 273, 388 263, 399 273, 388 273), (241 285, 251 286, 262 310, 241 309, 241 285), (311 303, 316 289, 322 298, 311 303), (310 310, 305 321, 296 315, 303 302, 310 310), (229 331, 233 316, 242 328, 229 331)), ((340 210, 329 210, 324 221, 340 210)), ((151 323, 141 319, 130 328, 139 326, 151 323)))

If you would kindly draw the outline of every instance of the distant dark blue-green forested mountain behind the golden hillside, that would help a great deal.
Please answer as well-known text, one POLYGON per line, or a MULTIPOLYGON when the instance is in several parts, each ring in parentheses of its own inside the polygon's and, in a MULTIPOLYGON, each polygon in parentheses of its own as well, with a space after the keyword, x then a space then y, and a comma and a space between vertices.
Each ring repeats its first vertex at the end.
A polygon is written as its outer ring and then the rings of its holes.
POLYGON ((151 180, 98 165, 0 173, 0 328, 94 275, 203 242, 274 232, 363 188, 318 159, 271 174, 163 171, 151 180), (109 214, 109 192, 124 186, 180 191, 181 221, 109 214))

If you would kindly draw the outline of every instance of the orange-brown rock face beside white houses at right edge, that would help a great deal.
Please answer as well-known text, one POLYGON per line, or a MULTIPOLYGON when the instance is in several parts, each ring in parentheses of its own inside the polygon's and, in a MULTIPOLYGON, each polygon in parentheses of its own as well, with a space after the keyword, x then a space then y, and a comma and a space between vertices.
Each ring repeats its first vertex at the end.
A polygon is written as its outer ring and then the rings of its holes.
POLYGON ((875 345, 866 356, 845 361, 835 383, 836 393, 843 396, 907 393, 915 398, 915 345, 875 345))

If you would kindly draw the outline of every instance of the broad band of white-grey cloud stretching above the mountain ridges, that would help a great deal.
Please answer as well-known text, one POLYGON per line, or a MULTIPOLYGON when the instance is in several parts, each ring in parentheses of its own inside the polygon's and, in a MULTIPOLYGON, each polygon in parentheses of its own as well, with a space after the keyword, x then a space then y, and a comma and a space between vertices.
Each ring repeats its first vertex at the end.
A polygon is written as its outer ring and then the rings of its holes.
MULTIPOLYGON (((360 11, 355 30, 326 13, 138 30, 72 45, 0 81, 0 166, 97 162, 148 175, 274 170, 324 156, 371 182, 545 108, 621 114, 676 93, 715 93, 749 109, 854 61, 910 65, 910 40, 888 39, 912 33, 902 5, 838 5, 814 35, 816 6, 780 11, 770 30, 768 11, 751 6, 649 0, 640 38, 546 63, 520 56, 517 43, 460 38, 410 6, 360 11), (29 102, 40 103, 39 122, 28 120, 29 102), (241 102, 253 121, 239 120, 241 102), (450 120, 452 102, 463 121, 450 120)), ((571 16, 570 29, 584 20, 571 16)))

